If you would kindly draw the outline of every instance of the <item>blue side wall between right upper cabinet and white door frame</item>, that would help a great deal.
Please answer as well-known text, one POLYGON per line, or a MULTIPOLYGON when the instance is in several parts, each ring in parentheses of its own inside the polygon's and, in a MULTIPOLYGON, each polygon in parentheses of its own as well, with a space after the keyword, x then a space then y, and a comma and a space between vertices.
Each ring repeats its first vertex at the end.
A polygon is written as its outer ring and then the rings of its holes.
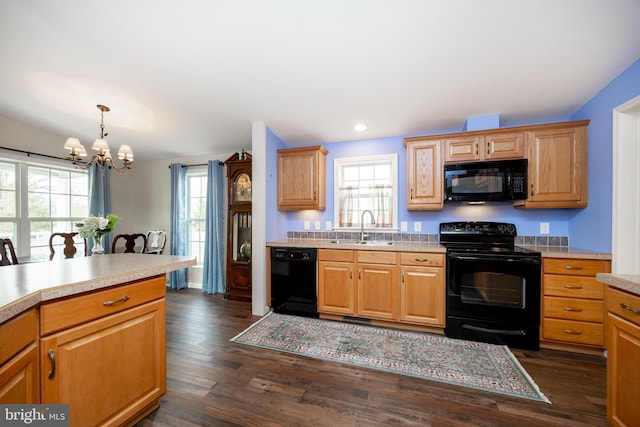
MULTIPOLYGON (((640 60, 578 110, 571 118, 589 123, 589 207, 570 221, 571 243, 611 252, 613 109, 640 95, 640 60)), ((637 238, 637 236, 636 236, 637 238)))

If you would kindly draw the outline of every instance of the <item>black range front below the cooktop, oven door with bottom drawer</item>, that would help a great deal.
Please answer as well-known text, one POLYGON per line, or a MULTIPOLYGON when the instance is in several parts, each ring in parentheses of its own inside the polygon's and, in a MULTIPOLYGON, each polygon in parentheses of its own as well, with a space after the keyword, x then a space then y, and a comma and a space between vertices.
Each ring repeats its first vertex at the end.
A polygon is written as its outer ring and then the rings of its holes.
POLYGON ((537 349, 539 330, 539 256, 449 251, 448 336, 537 349))

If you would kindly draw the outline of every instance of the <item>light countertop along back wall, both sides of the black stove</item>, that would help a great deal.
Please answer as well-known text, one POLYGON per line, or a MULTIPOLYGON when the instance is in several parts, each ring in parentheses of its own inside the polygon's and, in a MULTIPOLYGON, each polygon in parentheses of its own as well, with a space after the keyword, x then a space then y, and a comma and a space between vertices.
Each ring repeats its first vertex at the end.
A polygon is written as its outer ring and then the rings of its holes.
MULTIPOLYGON (((439 243, 394 241, 393 245, 362 245, 357 243, 331 243, 324 239, 288 239, 267 242, 271 247, 317 248, 317 249, 359 249, 372 251, 396 252, 431 252, 446 253, 446 248, 439 243)), ((545 258, 578 258, 610 260, 611 254, 585 249, 560 246, 522 246, 538 251, 545 258)))

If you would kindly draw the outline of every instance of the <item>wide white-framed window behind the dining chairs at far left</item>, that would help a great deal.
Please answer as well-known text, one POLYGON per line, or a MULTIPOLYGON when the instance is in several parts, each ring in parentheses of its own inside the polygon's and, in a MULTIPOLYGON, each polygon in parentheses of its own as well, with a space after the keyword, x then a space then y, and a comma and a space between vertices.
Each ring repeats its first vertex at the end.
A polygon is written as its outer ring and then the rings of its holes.
POLYGON ((49 236, 74 231, 89 214, 83 170, 0 160, 0 235, 20 256, 49 253, 49 236))

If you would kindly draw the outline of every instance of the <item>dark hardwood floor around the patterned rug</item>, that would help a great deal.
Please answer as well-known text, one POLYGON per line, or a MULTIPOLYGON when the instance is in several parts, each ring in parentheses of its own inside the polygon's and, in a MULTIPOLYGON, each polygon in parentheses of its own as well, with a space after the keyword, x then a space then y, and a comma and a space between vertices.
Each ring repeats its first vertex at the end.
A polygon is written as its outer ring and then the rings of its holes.
POLYGON ((600 356, 514 349, 552 404, 229 342, 251 304, 167 294, 167 394, 146 426, 606 426, 600 356))

